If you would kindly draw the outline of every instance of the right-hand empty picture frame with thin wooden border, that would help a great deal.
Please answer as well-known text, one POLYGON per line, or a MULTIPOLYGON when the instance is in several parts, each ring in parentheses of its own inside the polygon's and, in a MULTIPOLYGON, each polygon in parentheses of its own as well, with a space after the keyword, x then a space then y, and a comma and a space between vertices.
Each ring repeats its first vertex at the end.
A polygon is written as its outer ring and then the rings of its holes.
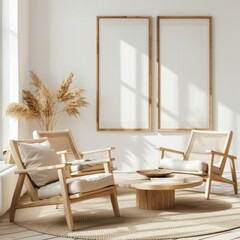
POLYGON ((212 17, 157 17, 158 129, 212 129, 212 17))

